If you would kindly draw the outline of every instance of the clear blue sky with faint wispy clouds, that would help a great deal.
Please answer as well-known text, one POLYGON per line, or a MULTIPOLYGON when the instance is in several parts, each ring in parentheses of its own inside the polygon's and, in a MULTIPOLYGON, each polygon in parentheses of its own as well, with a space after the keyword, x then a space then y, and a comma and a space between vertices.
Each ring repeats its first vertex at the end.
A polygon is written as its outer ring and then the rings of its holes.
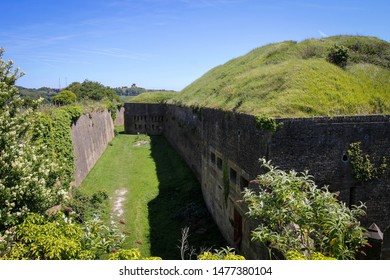
POLYGON ((285 40, 390 41, 387 0, 3 0, 0 47, 25 87, 181 90, 211 68, 285 40))

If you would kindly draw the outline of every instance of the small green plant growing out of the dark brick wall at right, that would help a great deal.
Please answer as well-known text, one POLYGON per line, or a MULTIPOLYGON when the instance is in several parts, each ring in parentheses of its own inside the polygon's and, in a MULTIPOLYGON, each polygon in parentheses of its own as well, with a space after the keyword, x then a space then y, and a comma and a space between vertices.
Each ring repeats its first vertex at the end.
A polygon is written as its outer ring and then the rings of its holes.
POLYGON ((352 174, 357 182, 368 182, 378 179, 387 169, 386 157, 382 157, 382 162, 376 166, 372 163, 368 154, 363 154, 361 142, 349 145, 348 156, 352 165, 352 174))

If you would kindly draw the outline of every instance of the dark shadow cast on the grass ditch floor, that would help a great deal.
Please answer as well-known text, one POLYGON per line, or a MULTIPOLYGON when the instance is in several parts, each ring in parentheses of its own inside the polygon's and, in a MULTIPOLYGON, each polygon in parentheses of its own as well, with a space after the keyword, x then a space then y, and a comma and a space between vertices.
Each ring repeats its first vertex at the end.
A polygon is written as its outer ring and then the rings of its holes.
POLYGON ((151 136, 151 156, 159 180, 159 194, 148 203, 152 256, 180 259, 184 227, 190 228, 188 242, 196 253, 227 246, 207 211, 199 182, 163 136, 151 136))

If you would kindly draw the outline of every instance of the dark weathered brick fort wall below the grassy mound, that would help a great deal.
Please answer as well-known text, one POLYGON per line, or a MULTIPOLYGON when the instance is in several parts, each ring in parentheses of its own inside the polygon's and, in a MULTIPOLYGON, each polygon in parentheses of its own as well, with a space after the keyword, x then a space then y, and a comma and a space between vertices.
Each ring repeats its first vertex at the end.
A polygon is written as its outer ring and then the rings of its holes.
MULTIPOLYGON (((329 185, 331 191, 340 192, 339 198, 347 205, 363 201, 367 205, 364 226, 375 222, 384 230, 390 225, 389 171, 379 180, 357 183, 347 155, 351 143, 361 142, 363 152, 374 162, 383 156, 389 159, 390 116, 277 119, 282 125, 272 133, 256 128, 255 117, 246 114, 126 104, 126 132, 137 132, 132 129, 134 115, 149 113, 163 118, 158 133, 165 135, 198 177, 224 237, 248 258, 267 257, 250 241, 254 225, 240 203, 243 188, 260 172, 262 157, 284 170, 309 170, 319 186, 329 185)), ((146 118, 142 124, 152 123, 146 118)))

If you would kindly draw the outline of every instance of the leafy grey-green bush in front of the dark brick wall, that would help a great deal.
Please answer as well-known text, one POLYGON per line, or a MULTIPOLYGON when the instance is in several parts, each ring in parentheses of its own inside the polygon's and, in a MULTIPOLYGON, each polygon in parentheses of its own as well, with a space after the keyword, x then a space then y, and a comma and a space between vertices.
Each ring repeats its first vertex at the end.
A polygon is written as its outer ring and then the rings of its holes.
POLYGON ((337 259, 354 259, 367 244, 358 217, 364 205, 351 209, 337 194, 318 188, 307 172, 285 172, 261 159, 268 171, 259 175, 255 190, 246 189, 248 215, 258 222, 252 239, 286 258, 299 252, 307 258, 320 253, 337 259))

